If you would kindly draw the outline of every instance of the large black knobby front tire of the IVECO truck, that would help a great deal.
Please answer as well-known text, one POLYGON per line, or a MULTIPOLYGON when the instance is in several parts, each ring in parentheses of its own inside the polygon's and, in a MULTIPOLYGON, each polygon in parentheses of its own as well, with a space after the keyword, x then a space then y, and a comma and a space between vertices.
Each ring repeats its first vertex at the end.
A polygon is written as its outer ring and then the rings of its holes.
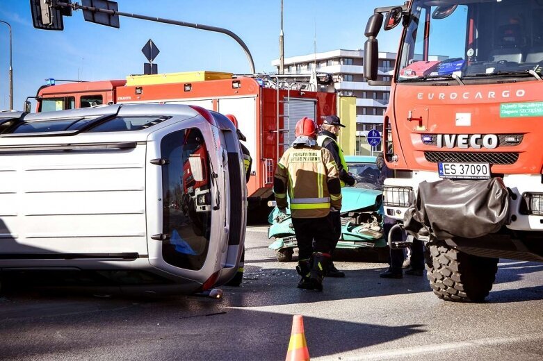
POLYGON ((426 245, 426 270, 434 293, 446 301, 481 302, 498 271, 498 259, 469 255, 445 242, 426 245))

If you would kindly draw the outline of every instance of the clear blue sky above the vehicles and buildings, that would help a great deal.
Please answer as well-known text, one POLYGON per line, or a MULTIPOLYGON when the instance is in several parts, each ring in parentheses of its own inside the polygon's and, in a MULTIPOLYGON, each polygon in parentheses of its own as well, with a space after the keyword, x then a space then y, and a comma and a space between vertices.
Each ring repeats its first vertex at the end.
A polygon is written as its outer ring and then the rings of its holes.
MULTIPOLYGON (((79 1, 81 2, 81 1, 79 1)), ((227 28, 248 45, 257 72, 279 57, 280 0, 119 0, 119 10, 227 28)), ((360 49, 373 8, 402 1, 284 0, 285 56, 360 49)), ((13 28, 14 108, 34 96, 45 78, 96 81, 143 73, 141 48, 152 39, 159 72, 211 70, 248 73, 241 47, 227 35, 127 17, 120 28, 85 22, 77 11, 64 31, 33 28, 29 0, 0 0, 0 19, 13 28)), ((399 28, 399 26, 398 26, 399 28)), ((396 29, 395 29, 396 30, 396 29)), ((396 31, 380 33, 380 51, 396 52, 396 31)), ((9 107, 8 27, 0 24, 0 109, 9 107)))

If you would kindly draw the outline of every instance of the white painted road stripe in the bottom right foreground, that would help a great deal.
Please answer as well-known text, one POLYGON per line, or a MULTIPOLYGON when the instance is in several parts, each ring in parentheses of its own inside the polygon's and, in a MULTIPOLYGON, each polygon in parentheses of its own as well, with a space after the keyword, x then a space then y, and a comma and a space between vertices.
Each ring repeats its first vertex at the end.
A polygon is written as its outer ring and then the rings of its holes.
MULTIPOLYGON (((451 342, 444 344, 410 347, 406 349, 395 349, 390 351, 375 351, 357 356, 341 357, 341 360, 385 360, 391 358, 405 358, 425 353, 437 353, 455 349, 468 349, 470 347, 492 346, 499 344, 514 344, 517 342, 543 341, 543 335, 521 335, 517 337, 496 337, 474 339, 472 341, 451 342)), ((360 352, 358 349, 357 352, 360 352)))

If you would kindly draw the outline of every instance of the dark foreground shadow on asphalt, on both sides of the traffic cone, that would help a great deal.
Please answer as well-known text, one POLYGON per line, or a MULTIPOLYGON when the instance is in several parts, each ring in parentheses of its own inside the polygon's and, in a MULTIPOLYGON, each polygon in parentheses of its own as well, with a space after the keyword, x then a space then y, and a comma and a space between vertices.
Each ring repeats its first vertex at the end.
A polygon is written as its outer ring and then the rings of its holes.
MULTIPOLYGON (((33 310, 18 319, 1 317, 2 359, 282 360, 289 345, 290 314, 229 309, 191 297, 71 303, 44 300, 36 306, 41 315, 33 310)), ((304 317, 304 324, 312 358, 423 332, 420 324, 380 326, 362 319, 304 317)))

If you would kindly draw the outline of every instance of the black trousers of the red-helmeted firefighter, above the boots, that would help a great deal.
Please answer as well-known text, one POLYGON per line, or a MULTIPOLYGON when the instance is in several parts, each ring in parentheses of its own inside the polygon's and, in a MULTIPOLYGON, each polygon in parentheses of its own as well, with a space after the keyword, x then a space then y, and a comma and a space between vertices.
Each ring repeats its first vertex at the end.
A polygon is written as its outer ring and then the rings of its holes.
POLYGON ((300 260, 311 258, 314 252, 330 253, 330 245, 337 242, 330 215, 323 218, 293 218, 292 225, 300 260))

